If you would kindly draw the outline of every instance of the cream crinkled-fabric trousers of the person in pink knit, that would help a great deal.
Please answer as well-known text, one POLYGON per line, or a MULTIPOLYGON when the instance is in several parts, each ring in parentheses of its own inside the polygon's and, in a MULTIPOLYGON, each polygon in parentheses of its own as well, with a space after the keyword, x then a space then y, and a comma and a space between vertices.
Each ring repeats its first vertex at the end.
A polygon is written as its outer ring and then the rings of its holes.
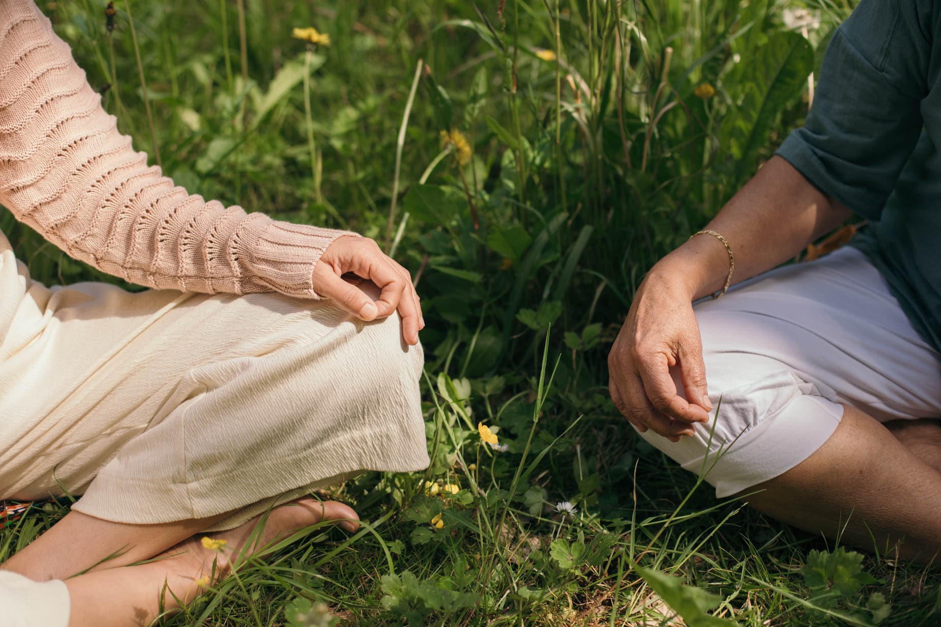
MULTIPOLYGON (((421 470, 422 368, 397 315, 364 323, 279 294, 46 287, 0 233, 0 499, 68 491, 72 509, 119 523, 229 513, 208 531, 365 470, 421 470)), ((0 614, 55 624, 48 607, 28 614, 30 595, 64 586, 4 574, 0 595, 20 604, 0 614)))

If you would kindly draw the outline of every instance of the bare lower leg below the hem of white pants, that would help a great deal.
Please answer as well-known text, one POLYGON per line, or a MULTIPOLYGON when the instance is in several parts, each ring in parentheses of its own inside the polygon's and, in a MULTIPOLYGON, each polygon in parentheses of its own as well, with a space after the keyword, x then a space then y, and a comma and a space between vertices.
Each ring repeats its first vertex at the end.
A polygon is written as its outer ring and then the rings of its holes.
POLYGON ((851 407, 817 452, 753 490, 751 506, 830 539, 920 562, 941 551, 941 474, 851 407))

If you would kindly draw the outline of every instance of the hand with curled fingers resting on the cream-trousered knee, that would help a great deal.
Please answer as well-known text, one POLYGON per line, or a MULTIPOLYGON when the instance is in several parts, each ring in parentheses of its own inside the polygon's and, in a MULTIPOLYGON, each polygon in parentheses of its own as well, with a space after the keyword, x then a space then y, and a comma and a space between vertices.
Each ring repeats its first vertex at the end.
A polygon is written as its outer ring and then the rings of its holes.
POLYGON ((313 289, 360 320, 384 318, 399 310, 402 336, 409 345, 418 344, 418 332, 424 329, 424 318, 411 275, 379 249, 372 239, 352 235, 335 239, 313 268, 313 289), (358 285, 343 281, 343 274, 347 272, 373 281, 382 290, 379 299, 374 301, 358 285))

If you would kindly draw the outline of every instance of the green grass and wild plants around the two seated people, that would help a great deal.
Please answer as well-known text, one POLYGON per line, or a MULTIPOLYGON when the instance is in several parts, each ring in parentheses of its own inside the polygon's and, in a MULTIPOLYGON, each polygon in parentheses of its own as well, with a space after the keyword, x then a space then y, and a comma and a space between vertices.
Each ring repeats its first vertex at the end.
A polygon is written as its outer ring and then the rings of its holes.
MULTIPOLYGON (((419 277, 428 322, 429 471, 339 487, 367 529, 302 539, 161 624, 279 625, 297 598, 349 625, 674 624, 659 598, 692 605, 693 627, 719 624, 696 607, 755 627, 869 624, 854 608, 872 593, 891 603, 883 625, 938 624, 937 571, 880 556, 863 562, 877 583, 812 591, 802 569, 832 544, 716 502, 606 394, 646 269, 803 120, 807 72, 849 4, 811 7, 805 40, 782 17, 801 5, 774 0, 246 0, 244 19, 233 2, 134 2, 141 72, 123 2, 113 34, 101 3, 53 5, 153 163, 158 148, 207 198, 374 237, 419 277), (291 38, 307 25, 332 45, 291 38), (702 83, 715 95, 694 95, 702 83), (442 146, 448 129, 468 137, 468 163, 442 146), (478 421, 506 452, 481 444, 478 421), (696 605, 671 581, 715 597, 696 605)), ((0 229, 40 281, 113 281, 7 213, 0 229)), ((0 561, 64 511, 0 532, 0 561)))

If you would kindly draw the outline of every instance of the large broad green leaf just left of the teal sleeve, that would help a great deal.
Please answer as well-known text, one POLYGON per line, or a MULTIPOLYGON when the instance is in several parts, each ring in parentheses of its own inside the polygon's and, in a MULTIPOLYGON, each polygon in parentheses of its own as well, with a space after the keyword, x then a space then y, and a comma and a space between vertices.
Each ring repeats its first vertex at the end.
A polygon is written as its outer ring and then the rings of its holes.
POLYGON ((755 47, 738 83, 744 89, 734 111, 723 121, 721 137, 736 160, 739 180, 750 177, 758 151, 768 143, 775 117, 805 87, 814 67, 810 43, 797 33, 778 31, 755 47), (727 142, 727 143, 726 143, 727 142))

